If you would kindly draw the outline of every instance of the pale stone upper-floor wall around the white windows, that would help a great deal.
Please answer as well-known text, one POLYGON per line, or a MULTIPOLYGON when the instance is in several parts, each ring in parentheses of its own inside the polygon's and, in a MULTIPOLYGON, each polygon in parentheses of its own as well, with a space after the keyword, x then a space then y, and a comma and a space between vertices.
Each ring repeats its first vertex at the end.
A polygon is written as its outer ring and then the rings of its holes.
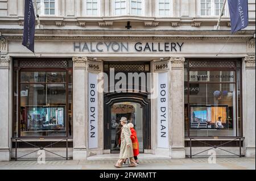
MULTIPOLYGON (((130 20, 133 29, 147 28, 148 30, 214 30, 218 16, 200 16, 200 0, 171 0, 171 14, 159 17, 158 0, 144 1, 142 16, 114 15, 114 0, 100 1, 98 15, 87 16, 85 0, 56 0, 56 15, 40 16, 43 28, 54 29, 124 29, 130 20)), ((23 0, 0 1, 0 27, 23 27, 23 0)), ((255 1, 249 0, 249 27, 245 30, 255 30, 255 1)), ((222 17, 221 30, 230 30, 228 5, 226 15, 222 17)))

